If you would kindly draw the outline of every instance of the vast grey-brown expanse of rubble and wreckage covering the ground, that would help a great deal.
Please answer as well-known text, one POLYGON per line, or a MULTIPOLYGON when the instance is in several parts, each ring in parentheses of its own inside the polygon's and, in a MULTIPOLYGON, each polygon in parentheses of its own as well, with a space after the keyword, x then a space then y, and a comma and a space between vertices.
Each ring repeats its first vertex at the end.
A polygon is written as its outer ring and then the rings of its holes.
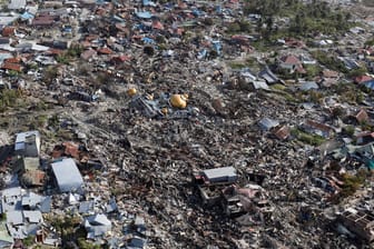
MULTIPOLYGON (((48 2, 37 2, 42 16, 48 2)), ((366 21, 364 32, 352 21, 350 28, 356 29, 342 33, 272 37, 272 42, 260 43, 267 32, 275 32, 266 27, 285 29, 289 23, 287 18, 275 17, 257 24, 256 16, 243 12, 245 1, 48 4, 57 4, 49 12, 71 9, 71 20, 66 14, 47 28, 21 21, 13 24, 26 36, 12 37, 18 44, 36 41, 48 50, 19 50, 22 59, 17 64, 22 71, 2 66, 3 81, 13 90, 1 90, 0 141, 6 148, 18 132, 41 133, 40 158, 47 180, 33 191, 52 196, 51 212, 43 218, 51 233, 58 235, 59 247, 87 246, 86 216, 77 212, 83 200, 95 200, 92 213, 105 212, 111 200, 118 206, 116 212, 108 211, 110 231, 87 240, 91 247, 126 248, 130 232, 124 231, 125 227, 138 217, 147 231, 137 232, 147 238, 148 248, 371 247, 360 236, 336 229, 336 217, 347 207, 364 206, 373 212, 371 171, 363 161, 335 158, 335 153, 344 153, 343 143, 357 146, 358 133, 374 130, 373 93, 353 83, 355 77, 371 76, 370 56, 360 59, 356 69, 344 68, 350 59, 360 58, 362 50, 372 52, 368 17, 355 20, 366 21), (61 30, 67 32, 67 26, 72 27, 69 48, 42 42, 65 40, 61 30), (245 26, 250 26, 249 31, 245 26), (234 34, 244 37, 237 41, 234 34), (297 71, 298 62, 293 62, 296 66, 285 72, 289 61, 280 61, 288 54, 311 57, 316 66, 304 62, 303 72, 297 71), (37 60, 38 56, 47 59, 37 60), (336 64, 328 63, 329 57, 336 64), (363 63, 365 73, 360 71, 363 63), (278 64, 285 68, 278 70, 278 64), (268 78, 260 73, 264 68, 268 78), (323 72, 327 69, 342 71, 336 72, 338 77, 326 77, 323 72), (268 70, 275 71, 275 82, 268 70), (324 83, 327 78, 336 82, 324 83), (317 89, 301 90, 309 81, 316 82, 317 89), (18 86, 22 82, 26 87, 18 86), (264 84, 257 88, 254 82, 264 84), (188 94, 187 107, 174 107, 171 96, 184 93, 188 94), (360 110, 367 112, 364 121, 356 116, 360 110), (263 129, 265 118, 276 120, 275 127, 287 127, 286 138, 279 139, 274 127, 263 129), (307 120, 326 124, 316 130, 327 129, 328 136, 309 135, 301 128, 307 120), (75 157, 86 186, 78 202, 69 193, 55 192, 48 168, 53 148, 66 141, 87 148, 87 157, 102 163, 94 169, 75 157), (229 217, 220 206, 203 203, 191 180, 194 172, 227 166, 237 170, 240 186, 249 182, 250 173, 265 176, 262 188, 272 206, 269 215, 252 211, 229 217), (348 186, 347 172, 360 178, 360 186, 354 180, 348 186), (344 182, 332 191, 316 183, 331 176, 338 178, 332 181, 344 182)), ((342 1, 341 8, 352 8, 351 1, 342 1)), ((354 6, 351 19, 357 18, 360 8, 354 6)), ((9 52, 8 47, 1 50, 9 52)), ((3 177, 12 172, 6 160, 8 150, 0 153, 2 168, 8 167, 1 171, 3 177)))

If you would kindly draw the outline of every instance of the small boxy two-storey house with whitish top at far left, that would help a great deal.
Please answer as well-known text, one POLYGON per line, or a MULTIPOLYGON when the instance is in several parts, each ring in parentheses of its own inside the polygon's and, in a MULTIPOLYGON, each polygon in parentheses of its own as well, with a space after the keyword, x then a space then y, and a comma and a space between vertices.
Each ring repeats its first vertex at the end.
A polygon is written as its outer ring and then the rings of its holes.
POLYGON ((20 155, 23 157, 39 157, 40 153, 39 131, 35 130, 17 133, 14 152, 16 155, 20 155))

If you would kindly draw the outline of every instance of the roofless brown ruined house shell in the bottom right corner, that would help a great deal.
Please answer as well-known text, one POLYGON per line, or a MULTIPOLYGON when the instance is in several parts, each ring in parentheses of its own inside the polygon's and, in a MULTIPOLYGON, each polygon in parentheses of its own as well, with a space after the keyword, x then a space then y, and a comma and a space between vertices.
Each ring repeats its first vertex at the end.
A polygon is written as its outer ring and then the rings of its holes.
POLYGON ((341 221, 352 232, 358 237, 372 241, 374 240, 374 216, 357 211, 355 209, 348 209, 344 211, 339 217, 341 221))

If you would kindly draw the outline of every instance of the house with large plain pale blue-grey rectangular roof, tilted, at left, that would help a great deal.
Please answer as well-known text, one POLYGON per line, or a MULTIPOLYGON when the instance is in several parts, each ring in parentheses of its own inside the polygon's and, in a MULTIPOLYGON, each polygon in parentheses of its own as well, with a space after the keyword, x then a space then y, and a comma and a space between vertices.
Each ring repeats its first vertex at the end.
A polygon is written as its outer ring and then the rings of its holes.
POLYGON ((52 171, 61 192, 80 191, 83 179, 76 162, 71 158, 63 158, 52 162, 52 171))

